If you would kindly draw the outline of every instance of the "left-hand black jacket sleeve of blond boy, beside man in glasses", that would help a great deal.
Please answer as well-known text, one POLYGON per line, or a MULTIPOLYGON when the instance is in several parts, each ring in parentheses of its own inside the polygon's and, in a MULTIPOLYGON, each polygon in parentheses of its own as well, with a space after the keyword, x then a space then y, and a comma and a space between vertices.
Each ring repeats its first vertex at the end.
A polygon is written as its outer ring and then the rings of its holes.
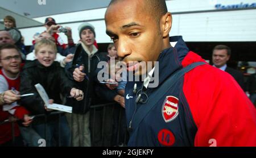
POLYGON ((44 102, 34 85, 31 73, 28 69, 23 69, 23 72, 20 73, 20 94, 34 93, 34 95, 22 97, 20 105, 26 107, 32 114, 44 114, 46 113, 44 102))

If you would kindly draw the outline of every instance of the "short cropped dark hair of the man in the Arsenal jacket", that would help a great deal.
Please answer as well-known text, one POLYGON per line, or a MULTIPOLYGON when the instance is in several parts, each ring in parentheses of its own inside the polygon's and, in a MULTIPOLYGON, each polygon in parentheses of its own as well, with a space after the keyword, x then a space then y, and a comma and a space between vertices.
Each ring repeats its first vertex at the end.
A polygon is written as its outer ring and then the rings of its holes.
MULTIPOLYGON (((123 0, 112 0, 109 3, 109 6, 119 1, 123 0)), ((156 19, 156 22, 158 23, 160 22, 160 18, 168 12, 165 0, 144 0, 144 3, 145 9, 156 19)))

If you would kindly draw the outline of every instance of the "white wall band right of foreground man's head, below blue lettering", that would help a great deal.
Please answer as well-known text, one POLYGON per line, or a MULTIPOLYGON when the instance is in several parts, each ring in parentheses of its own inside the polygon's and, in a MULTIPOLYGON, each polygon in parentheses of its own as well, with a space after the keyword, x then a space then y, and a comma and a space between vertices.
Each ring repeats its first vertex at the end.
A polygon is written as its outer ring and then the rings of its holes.
POLYGON ((185 41, 256 41, 256 9, 173 16, 170 35, 185 41))

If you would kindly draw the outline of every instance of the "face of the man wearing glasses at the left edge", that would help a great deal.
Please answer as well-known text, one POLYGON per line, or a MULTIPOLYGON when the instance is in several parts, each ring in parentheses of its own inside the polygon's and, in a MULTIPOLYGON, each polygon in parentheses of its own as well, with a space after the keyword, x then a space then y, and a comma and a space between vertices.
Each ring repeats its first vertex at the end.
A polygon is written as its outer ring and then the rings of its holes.
POLYGON ((2 49, 0 57, 0 66, 2 66, 7 75, 14 76, 19 73, 22 59, 16 49, 2 49))

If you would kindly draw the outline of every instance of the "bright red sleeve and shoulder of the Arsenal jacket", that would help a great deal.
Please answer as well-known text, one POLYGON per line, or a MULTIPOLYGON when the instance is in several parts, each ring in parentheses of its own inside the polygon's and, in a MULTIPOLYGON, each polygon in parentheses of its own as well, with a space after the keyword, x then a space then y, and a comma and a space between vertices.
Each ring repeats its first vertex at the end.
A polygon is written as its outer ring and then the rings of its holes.
POLYGON ((255 107, 230 74, 195 68, 185 74, 183 91, 197 126, 195 146, 256 145, 255 107))

